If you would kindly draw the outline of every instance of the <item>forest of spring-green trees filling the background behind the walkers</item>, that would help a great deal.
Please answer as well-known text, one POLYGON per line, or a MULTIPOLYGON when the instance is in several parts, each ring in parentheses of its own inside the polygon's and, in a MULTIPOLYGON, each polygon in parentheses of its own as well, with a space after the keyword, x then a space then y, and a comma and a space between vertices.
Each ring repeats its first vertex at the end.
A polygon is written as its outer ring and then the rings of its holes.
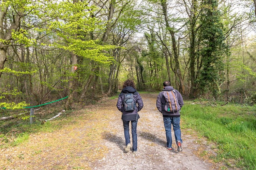
POLYGON ((1 0, 0 106, 141 91, 256 102, 255 0, 1 0))

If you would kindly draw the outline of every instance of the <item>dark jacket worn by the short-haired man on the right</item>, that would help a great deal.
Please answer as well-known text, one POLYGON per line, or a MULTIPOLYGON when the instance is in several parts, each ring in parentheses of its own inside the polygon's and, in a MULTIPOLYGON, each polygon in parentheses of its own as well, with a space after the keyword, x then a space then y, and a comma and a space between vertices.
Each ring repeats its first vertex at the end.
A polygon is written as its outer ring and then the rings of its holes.
MULTIPOLYGON (((163 91, 161 91, 159 93, 159 95, 157 96, 156 99, 156 107, 159 110, 159 112, 161 112, 163 114, 163 117, 180 117, 180 112, 176 111, 176 112, 166 112, 164 110, 164 106, 165 106, 165 97, 164 97, 164 92, 165 91, 171 91, 174 90, 174 88, 172 86, 165 86, 163 91)), ((175 90, 176 93, 176 100, 179 102, 180 108, 184 105, 183 102, 183 98, 180 94, 180 92, 178 90, 175 90)))

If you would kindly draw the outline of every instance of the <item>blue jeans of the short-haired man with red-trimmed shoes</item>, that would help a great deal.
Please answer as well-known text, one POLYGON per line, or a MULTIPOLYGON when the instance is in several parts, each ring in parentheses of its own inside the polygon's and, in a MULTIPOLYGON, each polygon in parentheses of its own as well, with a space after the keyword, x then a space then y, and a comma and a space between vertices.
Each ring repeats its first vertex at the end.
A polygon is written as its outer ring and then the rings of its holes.
POLYGON ((182 143, 181 139, 181 131, 180 131, 180 117, 163 117, 164 118, 164 128, 166 134, 166 147, 171 147, 172 139, 171 139, 171 124, 174 130, 174 136, 176 140, 176 144, 178 141, 182 143))

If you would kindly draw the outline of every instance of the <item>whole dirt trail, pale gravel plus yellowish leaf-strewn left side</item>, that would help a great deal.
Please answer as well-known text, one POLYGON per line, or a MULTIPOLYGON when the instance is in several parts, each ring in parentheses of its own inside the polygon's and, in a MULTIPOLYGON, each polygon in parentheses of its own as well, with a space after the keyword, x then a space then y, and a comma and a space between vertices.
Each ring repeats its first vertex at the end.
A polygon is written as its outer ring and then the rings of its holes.
MULTIPOLYGON (((98 107, 81 110, 81 114, 58 131, 33 134, 26 143, 0 150, 0 168, 183 170, 216 167, 193 153, 201 145, 182 129, 183 151, 177 152, 175 143, 172 145, 175 151, 167 150, 163 117, 155 107, 157 94, 141 97, 144 108, 139 112, 137 154, 124 153, 121 113, 116 108, 117 99, 112 99, 98 107)), ((172 140, 175 141, 173 132, 172 140)))

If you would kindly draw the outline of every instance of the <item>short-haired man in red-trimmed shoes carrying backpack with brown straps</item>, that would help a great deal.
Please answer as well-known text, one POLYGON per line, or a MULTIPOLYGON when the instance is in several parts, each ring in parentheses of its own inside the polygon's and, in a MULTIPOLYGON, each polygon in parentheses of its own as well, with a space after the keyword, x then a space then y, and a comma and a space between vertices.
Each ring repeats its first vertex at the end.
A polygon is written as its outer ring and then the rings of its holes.
POLYGON ((170 81, 165 81, 163 83, 164 89, 159 93, 156 99, 156 107, 163 114, 165 134, 166 134, 166 148, 168 150, 173 150, 172 148, 172 137, 171 137, 171 124, 174 130, 175 140, 178 147, 178 152, 181 152, 182 139, 180 131, 180 109, 184 105, 183 98, 178 90, 175 90, 170 81), (166 97, 165 97, 165 96, 166 97), (170 98, 172 100, 170 101, 170 98), (173 108, 171 103, 174 105, 173 108), (170 104, 169 104, 170 103, 170 104), (167 106, 167 107, 166 107, 167 106), (175 109, 176 107, 176 109, 175 109), (171 111, 172 110, 172 111, 171 111))

